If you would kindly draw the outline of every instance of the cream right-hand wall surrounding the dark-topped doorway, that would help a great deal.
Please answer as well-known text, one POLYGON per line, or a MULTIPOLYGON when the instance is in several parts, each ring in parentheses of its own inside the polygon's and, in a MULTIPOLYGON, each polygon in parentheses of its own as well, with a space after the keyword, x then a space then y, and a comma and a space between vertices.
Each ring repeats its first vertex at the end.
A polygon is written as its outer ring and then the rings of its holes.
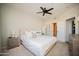
MULTIPOLYGON (((60 28, 58 31, 60 31, 62 34, 61 34, 61 38, 59 39, 59 40, 64 40, 64 42, 65 41, 67 41, 67 39, 66 39, 66 35, 68 34, 67 32, 66 32, 66 20, 67 19, 69 19, 69 18, 72 18, 72 17, 76 17, 76 19, 75 19, 75 21, 78 19, 78 17, 77 17, 77 13, 78 13, 78 8, 76 8, 76 7, 73 7, 73 8, 71 8, 70 10, 68 10, 66 13, 64 13, 61 17, 60 17, 60 23, 61 22, 63 22, 63 24, 61 25, 62 26, 62 29, 60 28)), ((58 25, 58 26, 60 26, 60 25, 58 25)), ((77 26, 76 26, 77 27, 77 26)), ((76 29, 77 30, 77 29, 76 29)), ((58 33, 58 35, 60 35, 59 33, 58 33)))

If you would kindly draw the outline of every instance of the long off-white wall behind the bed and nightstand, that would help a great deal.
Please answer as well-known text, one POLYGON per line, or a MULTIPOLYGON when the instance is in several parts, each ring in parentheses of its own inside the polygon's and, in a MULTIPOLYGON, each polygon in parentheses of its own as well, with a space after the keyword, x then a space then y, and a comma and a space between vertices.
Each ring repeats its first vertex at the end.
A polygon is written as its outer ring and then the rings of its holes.
POLYGON ((22 10, 19 12, 14 7, 3 6, 2 16, 3 46, 7 44, 7 37, 13 32, 23 29, 41 30, 42 20, 33 15, 24 13, 22 10))

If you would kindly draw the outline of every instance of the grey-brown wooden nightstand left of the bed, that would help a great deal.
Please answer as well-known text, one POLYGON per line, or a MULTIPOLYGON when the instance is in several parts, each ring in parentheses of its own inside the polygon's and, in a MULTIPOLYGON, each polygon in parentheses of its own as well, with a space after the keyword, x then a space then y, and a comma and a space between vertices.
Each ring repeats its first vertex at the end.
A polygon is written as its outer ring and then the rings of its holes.
POLYGON ((20 39, 18 37, 8 37, 8 49, 19 47, 20 39))

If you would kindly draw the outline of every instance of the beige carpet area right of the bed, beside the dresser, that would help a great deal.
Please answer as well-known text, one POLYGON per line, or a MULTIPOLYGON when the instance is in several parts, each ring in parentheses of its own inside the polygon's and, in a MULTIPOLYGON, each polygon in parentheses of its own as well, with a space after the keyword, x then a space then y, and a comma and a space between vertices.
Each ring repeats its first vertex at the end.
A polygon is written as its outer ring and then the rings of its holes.
POLYGON ((69 56, 68 44, 58 42, 48 53, 48 56, 69 56))

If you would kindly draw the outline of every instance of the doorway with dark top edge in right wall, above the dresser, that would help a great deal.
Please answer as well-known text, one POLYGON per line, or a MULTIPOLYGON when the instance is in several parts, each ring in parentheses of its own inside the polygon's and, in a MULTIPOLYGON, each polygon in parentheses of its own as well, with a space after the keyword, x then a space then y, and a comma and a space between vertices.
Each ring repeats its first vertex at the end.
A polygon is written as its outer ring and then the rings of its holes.
POLYGON ((66 39, 69 41, 69 36, 75 34, 75 17, 66 21, 66 39))

